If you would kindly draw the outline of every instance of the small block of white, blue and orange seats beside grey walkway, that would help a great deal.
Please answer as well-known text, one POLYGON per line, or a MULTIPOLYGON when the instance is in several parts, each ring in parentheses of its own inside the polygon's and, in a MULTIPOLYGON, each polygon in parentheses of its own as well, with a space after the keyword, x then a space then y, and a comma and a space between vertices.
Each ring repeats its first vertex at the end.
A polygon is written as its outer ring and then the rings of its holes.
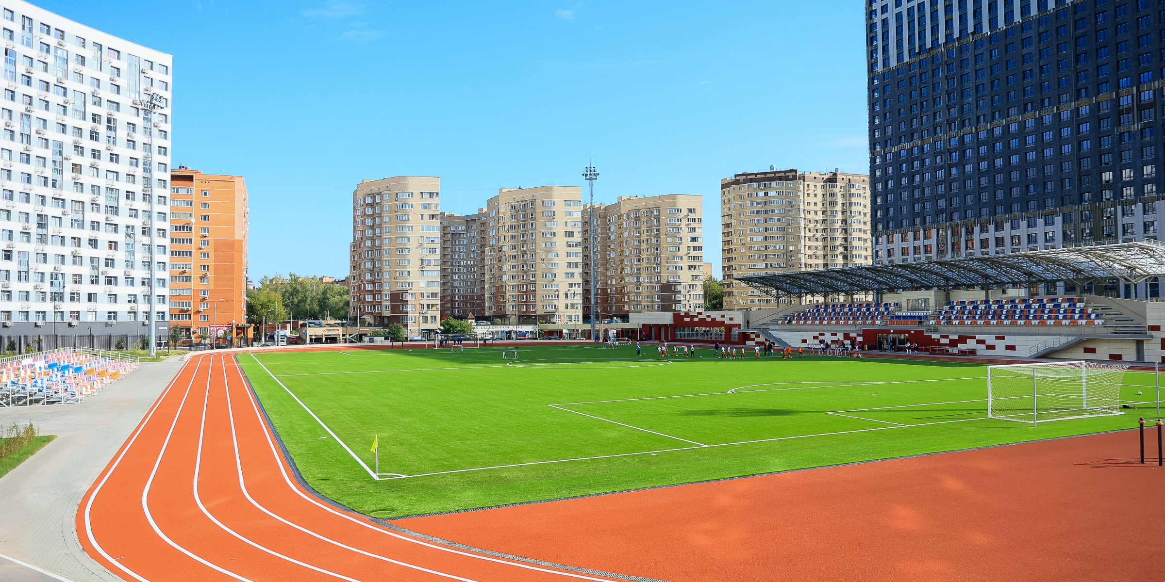
POLYGON ((0 406, 80 402, 136 368, 136 362, 70 349, 0 363, 0 406))

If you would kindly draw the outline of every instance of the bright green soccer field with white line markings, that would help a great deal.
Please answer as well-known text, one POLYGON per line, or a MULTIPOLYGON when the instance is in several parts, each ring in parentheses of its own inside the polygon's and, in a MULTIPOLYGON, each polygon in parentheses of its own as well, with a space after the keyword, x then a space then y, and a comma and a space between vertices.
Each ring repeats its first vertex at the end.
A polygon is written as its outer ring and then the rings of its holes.
MULTIPOLYGON (((987 418, 977 364, 518 352, 238 360, 306 482, 382 518, 1130 428, 1153 407, 1033 427, 987 418)), ((1122 398, 1156 400, 1153 382, 1127 372, 1122 398)))

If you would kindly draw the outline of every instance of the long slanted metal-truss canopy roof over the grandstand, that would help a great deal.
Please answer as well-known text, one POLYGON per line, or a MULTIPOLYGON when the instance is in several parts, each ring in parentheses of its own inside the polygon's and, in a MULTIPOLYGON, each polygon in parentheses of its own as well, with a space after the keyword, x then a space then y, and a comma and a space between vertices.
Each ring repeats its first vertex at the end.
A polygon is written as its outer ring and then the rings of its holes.
POLYGON ((790 271, 736 277, 771 294, 816 296, 922 289, 993 289, 1095 279, 1141 283, 1165 277, 1165 243, 1158 241, 1092 244, 821 271, 790 271))

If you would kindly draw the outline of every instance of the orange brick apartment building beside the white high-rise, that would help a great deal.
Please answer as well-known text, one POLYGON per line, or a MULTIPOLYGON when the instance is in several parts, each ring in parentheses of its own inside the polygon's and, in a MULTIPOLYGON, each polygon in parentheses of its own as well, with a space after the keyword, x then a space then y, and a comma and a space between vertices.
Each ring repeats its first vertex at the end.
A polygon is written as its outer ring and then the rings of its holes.
POLYGON ((170 186, 170 327, 183 340, 227 332, 238 343, 248 328, 247 184, 179 165, 170 186))

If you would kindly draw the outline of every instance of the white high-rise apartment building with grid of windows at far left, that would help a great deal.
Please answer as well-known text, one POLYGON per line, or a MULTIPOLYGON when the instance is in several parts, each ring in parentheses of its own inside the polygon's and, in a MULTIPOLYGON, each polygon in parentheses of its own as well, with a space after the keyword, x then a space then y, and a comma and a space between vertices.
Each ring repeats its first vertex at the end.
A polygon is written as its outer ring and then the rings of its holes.
POLYGON ((0 10, 0 334, 165 338, 171 56, 0 10))

